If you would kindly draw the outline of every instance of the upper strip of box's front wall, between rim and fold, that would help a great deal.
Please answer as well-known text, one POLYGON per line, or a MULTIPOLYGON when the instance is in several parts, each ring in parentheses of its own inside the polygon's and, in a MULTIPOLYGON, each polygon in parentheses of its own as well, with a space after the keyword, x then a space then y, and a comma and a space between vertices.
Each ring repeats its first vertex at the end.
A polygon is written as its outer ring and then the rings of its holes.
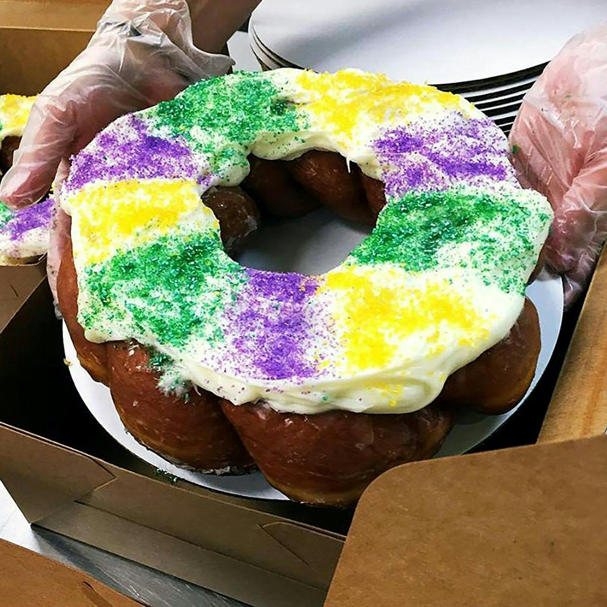
POLYGON ((107 469, 115 481, 84 496, 81 503, 310 586, 328 588, 343 546, 336 535, 241 506, 238 500, 229 503, 216 493, 190 490, 187 484, 175 486, 114 466, 107 469))

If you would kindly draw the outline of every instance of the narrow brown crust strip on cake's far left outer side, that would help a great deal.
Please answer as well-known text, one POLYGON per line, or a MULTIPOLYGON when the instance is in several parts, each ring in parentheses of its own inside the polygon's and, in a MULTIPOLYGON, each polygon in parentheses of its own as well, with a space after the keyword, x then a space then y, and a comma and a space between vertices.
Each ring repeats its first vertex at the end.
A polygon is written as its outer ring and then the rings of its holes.
POLYGON ((80 364, 98 382, 107 385, 106 344, 93 344, 84 337, 84 330, 78 322, 78 278, 72 254, 72 239, 68 237, 61 257, 57 276, 57 297, 61 316, 66 321, 67 330, 78 354, 80 364))

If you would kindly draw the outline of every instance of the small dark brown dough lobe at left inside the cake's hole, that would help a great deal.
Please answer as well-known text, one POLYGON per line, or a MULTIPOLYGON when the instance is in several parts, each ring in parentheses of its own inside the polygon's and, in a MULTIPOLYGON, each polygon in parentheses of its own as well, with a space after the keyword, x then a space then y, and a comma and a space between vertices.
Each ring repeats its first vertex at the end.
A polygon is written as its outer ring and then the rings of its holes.
POLYGON ((259 208, 241 188, 212 188, 202 200, 217 217, 223 246, 228 252, 237 250, 246 236, 259 228, 259 208))

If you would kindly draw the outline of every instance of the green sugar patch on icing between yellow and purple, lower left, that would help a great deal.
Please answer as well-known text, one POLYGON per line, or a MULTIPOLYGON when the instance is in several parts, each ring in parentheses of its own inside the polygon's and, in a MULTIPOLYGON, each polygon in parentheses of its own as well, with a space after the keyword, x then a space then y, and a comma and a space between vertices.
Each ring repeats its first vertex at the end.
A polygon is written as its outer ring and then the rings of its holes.
POLYGON ((223 339, 211 319, 239 293, 246 271, 223 252, 219 234, 208 231, 164 236, 121 251, 86 268, 84 282, 87 298, 79 314, 84 326, 123 324, 138 341, 153 334, 160 343, 179 347, 192 336, 211 344, 223 339))

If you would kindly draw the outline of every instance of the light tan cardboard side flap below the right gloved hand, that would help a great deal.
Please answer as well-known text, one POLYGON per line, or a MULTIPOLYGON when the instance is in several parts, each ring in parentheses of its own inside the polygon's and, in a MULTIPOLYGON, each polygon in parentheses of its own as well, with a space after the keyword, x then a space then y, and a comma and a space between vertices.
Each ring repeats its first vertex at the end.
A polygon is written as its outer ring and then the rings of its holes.
POLYGON ((607 249, 603 249, 558 376, 538 443, 607 429, 607 249))

